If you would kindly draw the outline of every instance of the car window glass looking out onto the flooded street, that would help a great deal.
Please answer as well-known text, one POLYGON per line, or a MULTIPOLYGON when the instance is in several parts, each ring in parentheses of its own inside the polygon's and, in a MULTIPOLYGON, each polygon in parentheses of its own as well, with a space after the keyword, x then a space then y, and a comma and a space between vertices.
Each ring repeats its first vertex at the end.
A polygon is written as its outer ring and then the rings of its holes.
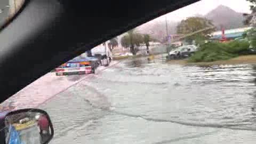
POLYGON ((1 106, 46 110, 55 144, 255 143, 255 3, 202 0, 162 15, 1 106))

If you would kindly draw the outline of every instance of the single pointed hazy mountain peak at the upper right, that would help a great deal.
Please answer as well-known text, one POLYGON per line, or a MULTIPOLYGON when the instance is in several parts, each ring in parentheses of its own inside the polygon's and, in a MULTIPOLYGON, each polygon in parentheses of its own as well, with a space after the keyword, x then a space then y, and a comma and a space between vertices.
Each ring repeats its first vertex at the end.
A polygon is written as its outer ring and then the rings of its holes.
POLYGON ((220 30, 243 27, 243 13, 238 13, 227 6, 220 5, 216 9, 207 13, 205 18, 212 20, 213 24, 220 30))

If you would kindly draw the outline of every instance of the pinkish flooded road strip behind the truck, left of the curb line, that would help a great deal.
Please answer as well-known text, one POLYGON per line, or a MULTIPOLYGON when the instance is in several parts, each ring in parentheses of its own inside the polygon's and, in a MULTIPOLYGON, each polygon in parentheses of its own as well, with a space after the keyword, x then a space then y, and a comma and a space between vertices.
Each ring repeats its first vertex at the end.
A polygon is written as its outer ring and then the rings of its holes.
MULTIPOLYGON (((109 67, 113 67, 117 63, 118 61, 111 62, 109 67)), ((95 75, 56 76, 55 73, 47 73, 1 103, 1 105, 12 103, 15 109, 38 107, 73 85, 81 81, 90 81, 109 67, 99 67, 95 70, 95 75)))

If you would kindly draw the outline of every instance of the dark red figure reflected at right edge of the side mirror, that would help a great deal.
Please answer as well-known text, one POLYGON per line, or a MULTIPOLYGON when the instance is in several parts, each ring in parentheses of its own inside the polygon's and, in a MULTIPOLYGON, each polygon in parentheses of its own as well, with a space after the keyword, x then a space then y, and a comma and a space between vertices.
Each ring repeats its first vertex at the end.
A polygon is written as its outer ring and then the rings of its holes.
POLYGON ((49 121, 46 115, 43 114, 39 117, 37 125, 40 130, 39 134, 41 135, 41 143, 44 143, 51 136, 49 131, 49 121))

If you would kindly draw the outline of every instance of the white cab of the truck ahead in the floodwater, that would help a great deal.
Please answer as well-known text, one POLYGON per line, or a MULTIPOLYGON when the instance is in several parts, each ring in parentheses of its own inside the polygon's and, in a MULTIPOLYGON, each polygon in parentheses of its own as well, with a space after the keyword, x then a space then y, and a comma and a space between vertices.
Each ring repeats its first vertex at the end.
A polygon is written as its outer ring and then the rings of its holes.
POLYGON ((92 50, 92 55, 97 57, 97 55, 100 55, 100 61, 101 61, 101 66, 108 66, 111 60, 113 60, 113 56, 109 48, 101 44, 98 46, 95 46, 92 50))

